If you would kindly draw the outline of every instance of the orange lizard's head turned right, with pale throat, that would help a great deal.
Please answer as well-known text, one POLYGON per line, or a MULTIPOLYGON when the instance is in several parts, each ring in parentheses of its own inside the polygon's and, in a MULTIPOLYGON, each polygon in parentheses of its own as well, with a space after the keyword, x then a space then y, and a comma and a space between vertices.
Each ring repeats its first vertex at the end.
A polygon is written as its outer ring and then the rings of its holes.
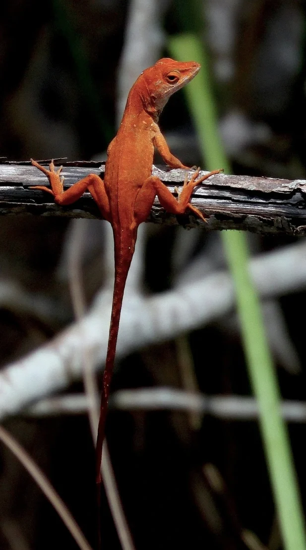
POLYGON ((160 59, 145 69, 139 78, 145 110, 158 118, 169 97, 188 84, 199 70, 195 61, 178 62, 170 58, 160 59))

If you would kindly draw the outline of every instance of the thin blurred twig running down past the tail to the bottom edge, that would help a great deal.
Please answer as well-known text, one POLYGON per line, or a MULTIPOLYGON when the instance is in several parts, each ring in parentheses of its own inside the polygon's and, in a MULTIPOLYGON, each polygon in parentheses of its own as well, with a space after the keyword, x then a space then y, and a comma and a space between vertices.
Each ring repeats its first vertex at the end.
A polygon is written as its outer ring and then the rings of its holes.
MULTIPOLYGON (((68 253, 68 267, 70 274, 70 293, 72 296, 73 309, 75 317, 78 321, 85 315, 85 303, 84 292, 81 284, 81 257, 84 248, 84 224, 83 220, 74 221, 73 234, 71 238, 69 253, 68 253)), ((109 235, 110 236, 110 235, 109 235)), ((112 237, 111 237, 112 238, 112 237)), ((81 324, 79 324, 80 338, 83 337, 81 333, 81 324)), ((83 380, 87 401, 89 403, 88 414, 90 419, 91 433, 94 444, 97 439, 97 430, 99 423, 99 407, 97 405, 97 383, 94 376, 94 365, 92 364, 89 351, 83 349, 83 380)), ((101 473, 105 491, 107 495, 108 504, 112 512, 114 524, 116 525, 119 540, 121 541, 122 548, 124 550, 135 550, 132 535, 130 534, 128 522, 125 518, 119 491, 114 476, 114 471, 111 463, 110 454, 108 453, 107 442, 103 443, 103 459, 101 464, 101 473)))

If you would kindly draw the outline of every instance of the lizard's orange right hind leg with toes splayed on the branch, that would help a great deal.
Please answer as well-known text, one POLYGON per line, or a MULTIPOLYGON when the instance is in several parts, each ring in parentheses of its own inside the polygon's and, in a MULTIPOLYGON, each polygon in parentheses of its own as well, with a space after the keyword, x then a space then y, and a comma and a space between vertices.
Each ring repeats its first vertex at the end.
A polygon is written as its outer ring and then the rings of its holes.
POLYGON ((201 178, 197 180, 196 178, 198 178, 200 172, 200 168, 198 168, 189 181, 188 175, 186 174, 183 189, 179 194, 178 199, 172 195, 171 191, 159 178, 151 176, 145 181, 135 200, 134 216, 136 224, 138 225, 147 219, 156 195, 159 198, 161 206, 165 208, 167 212, 171 212, 172 214, 183 214, 186 209, 189 208, 197 216, 203 219, 204 222, 206 222, 206 219, 198 208, 190 203, 190 196, 192 195, 196 185, 199 185, 211 175, 218 174, 221 171, 222 170, 214 170, 204 176, 201 176, 201 178))

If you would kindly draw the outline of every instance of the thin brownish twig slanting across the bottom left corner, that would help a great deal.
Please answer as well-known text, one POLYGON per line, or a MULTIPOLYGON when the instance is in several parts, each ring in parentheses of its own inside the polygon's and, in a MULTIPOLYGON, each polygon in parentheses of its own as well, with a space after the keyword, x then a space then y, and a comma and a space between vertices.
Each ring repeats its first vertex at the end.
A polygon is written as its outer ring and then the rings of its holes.
POLYGON ((72 534, 75 542, 77 542, 81 550, 92 550, 89 543, 86 541, 83 533, 81 532, 77 522, 75 522, 73 516, 70 514, 67 506, 64 504, 63 500, 57 492, 52 487, 50 481, 47 479, 45 474, 41 471, 39 466, 35 464, 34 460, 30 455, 21 447, 21 445, 12 437, 3 426, 0 426, 0 439, 6 445, 12 453, 18 458, 21 464, 29 472, 32 478, 36 481, 37 485, 40 487, 41 491, 46 495, 47 499, 50 500, 54 509, 56 509, 58 515, 62 518, 65 526, 72 534))

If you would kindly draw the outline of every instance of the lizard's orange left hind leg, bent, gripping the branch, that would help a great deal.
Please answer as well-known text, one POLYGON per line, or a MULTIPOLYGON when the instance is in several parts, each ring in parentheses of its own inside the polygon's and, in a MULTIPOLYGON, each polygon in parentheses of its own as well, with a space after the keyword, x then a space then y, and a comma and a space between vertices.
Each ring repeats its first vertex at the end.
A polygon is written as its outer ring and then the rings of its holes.
POLYGON ((60 166, 56 171, 53 161, 49 164, 50 170, 41 166, 38 162, 32 160, 31 163, 33 166, 36 166, 41 172, 43 172, 51 185, 51 189, 45 185, 32 185, 30 189, 40 189, 41 191, 47 191, 54 197, 54 201, 58 205, 70 205, 73 202, 80 199, 80 197, 89 191, 95 202, 99 206, 99 210, 102 216, 110 221, 110 202, 105 191, 104 182, 99 175, 97 174, 88 174, 86 178, 80 179, 79 182, 75 183, 69 189, 64 191, 63 183, 64 177, 61 176, 63 167, 60 166))

